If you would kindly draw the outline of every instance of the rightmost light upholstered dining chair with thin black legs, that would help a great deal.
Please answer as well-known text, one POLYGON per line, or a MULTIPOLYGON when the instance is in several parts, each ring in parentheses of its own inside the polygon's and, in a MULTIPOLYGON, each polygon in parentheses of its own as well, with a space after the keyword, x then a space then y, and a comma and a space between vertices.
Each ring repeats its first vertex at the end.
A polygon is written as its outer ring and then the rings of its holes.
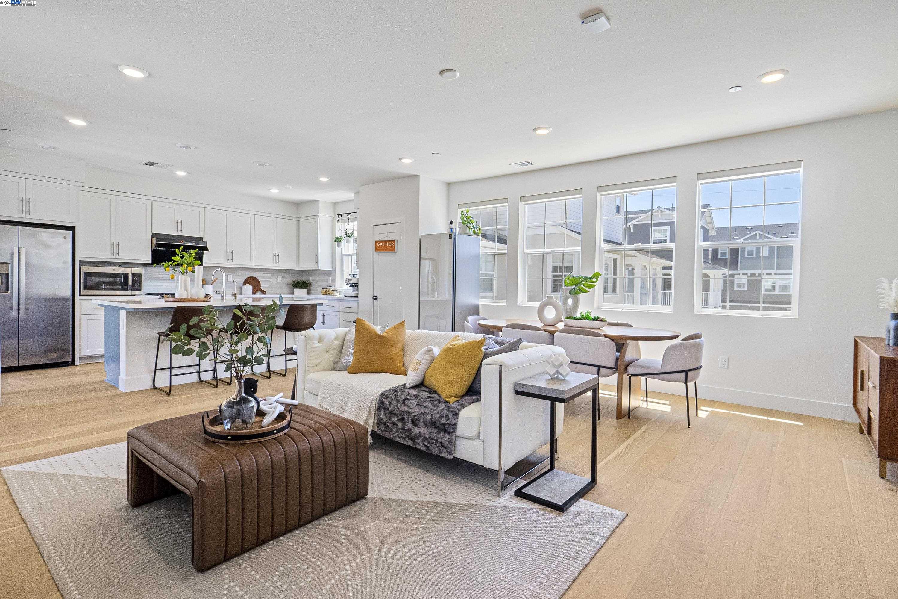
MULTIPOLYGON (((666 381, 668 383, 683 383, 686 387, 686 427, 691 427, 689 418, 689 383, 692 383, 695 391, 695 415, 699 415, 699 371, 701 370, 701 356, 705 350, 705 339, 701 333, 686 335, 665 349, 665 354, 660 360, 652 357, 642 357, 627 367, 628 396, 627 418, 630 415, 630 397, 633 390, 633 377, 641 376, 646 380, 646 405, 648 405, 648 379, 666 381)), ((641 402, 640 402, 641 404, 641 402)))

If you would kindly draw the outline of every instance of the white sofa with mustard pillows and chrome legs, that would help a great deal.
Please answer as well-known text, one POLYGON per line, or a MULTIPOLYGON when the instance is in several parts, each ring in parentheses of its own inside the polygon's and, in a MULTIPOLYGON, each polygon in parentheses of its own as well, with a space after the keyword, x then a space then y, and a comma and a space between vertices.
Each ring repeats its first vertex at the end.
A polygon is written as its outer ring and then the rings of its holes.
MULTIPOLYGON (((296 346, 296 398, 312 406, 318 404, 321 383, 331 376, 368 377, 370 374, 348 374, 335 371, 348 329, 305 330, 299 333, 296 346)), ((421 348, 443 347, 454 335, 462 339, 478 339, 474 333, 436 330, 406 332, 402 362, 406 368, 421 348)), ((548 401, 515 395, 515 383, 545 372, 545 361, 564 350, 554 346, 524 343, 518 351, 489 357, 483 362, 481 401, 463 409, 455 440, 454 456, 498 471, 499 493, 507 483, 505 471, 515 462, 549 443, 548 401), (501 418, 500 418, 501 413, 501 418)), ((383 374, 377 375, 383 379, 383 374)), ((364 381, 365 379, 360 378, 364 381)), ((387 389, 404 384, 405 376, 392 375, 387 389)), ((564 406, 557 405, 557 435, 564 422, 564 406)), ((376 423, 374 425, 376 430, 376 423)))

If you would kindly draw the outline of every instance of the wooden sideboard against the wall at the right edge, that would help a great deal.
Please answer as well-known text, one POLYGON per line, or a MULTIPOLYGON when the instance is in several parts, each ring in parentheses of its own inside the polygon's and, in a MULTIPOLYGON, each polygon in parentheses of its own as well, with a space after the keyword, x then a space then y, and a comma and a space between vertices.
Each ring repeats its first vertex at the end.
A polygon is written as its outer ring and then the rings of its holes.
POLYGON ((885 479, 886 462, 898 462, 898 348, 882 337, 855 337, 853 388, 860 433, 873 445, 885 479))

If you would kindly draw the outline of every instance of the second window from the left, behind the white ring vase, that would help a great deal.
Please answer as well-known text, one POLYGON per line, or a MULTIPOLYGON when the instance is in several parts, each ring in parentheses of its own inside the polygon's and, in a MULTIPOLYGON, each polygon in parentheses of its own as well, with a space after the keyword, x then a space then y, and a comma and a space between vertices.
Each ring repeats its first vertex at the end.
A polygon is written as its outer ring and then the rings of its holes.
POLYGON ((564 277, 580 272, 583 197, 579 189, 521 198, 524 212, 524 303, 561 290, 564 277))

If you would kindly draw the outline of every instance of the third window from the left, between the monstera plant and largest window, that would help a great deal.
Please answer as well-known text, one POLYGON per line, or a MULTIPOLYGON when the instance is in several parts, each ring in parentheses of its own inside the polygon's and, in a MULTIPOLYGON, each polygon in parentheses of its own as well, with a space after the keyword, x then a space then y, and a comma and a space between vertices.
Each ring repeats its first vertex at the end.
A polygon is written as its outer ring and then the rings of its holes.
POLYGON ((669 311, 674 305, 674 185, 603 193, 603 305, 669 311))

